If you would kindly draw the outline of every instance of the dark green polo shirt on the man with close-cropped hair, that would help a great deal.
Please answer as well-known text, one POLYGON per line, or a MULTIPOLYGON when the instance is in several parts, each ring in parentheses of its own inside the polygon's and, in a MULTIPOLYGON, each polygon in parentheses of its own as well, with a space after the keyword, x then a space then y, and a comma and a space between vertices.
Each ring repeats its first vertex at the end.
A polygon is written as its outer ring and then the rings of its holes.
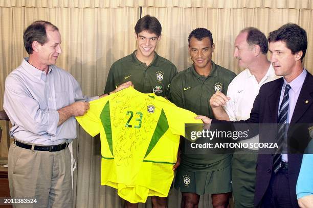
MULTIPOLYGON (((214 118, 209 100, 217 91, 227 94, 228 85, 235 76, 234 72, 216 65, 213 61, 212 70, 207 77, 199 75, 192 65, 173 78, 168 98, 178 107, 214 118)), ((184 144, 182 147, 184 148, 184 144)), ((230 164, 229 154, 212 155, 183 153, 181 166, 188 171, 216 171, 230 164)))

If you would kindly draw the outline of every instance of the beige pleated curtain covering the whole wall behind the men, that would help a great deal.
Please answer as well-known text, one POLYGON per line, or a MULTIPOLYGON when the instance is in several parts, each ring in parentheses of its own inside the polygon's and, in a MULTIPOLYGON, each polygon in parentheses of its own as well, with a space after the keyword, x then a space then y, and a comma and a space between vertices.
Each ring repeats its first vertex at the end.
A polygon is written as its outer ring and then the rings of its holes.
MULTIPOLYGON (((211 30, 215 43, 213 60, 236 73, 233 58, 236 35, 244 27, 257 27, 267 35, 287 22, 295 22, 308 34, 304 65, 312 73, 313 15, 311 0, 2 0, 0 1, 0 109, 4 81, 26 51, 23 31, 32 21, 42 19, 57 25, 63 54, 57 65, 68 70, 86 95, 101 94, 110 65, 136 49, 133 28, 140 16, 156 16, 162 24, 158 53, 172 61, 178 70, 191 65, 188 35, 197 27, 211 30)), ((9 124, 4 128, 0 157, 7 157, 9 124)), ((122 207, 116 190, 100 186, 100 138, 88 136, 78 127, 74 142, 77 170, 74 178, 75 207, 122 207)), ((180 206, 181 194, 172 189, 169 207, 180 206)), ((210 207, 209 195, 201 197, 199 207, 210 207)), ((151 207, 150 199, 140 207, 151 207)))

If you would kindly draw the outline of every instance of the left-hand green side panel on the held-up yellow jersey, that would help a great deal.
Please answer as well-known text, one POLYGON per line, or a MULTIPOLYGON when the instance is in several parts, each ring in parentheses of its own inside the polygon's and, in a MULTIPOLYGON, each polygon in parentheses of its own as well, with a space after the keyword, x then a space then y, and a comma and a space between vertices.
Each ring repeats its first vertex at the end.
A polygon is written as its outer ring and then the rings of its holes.
POLYGON ((100 120, 102 122, 107 143, 109 145, 111 154, 113 154, 113 142, 112 142, 112 129, 111 129, 111 119, 110 119, 110 102, 107 101, 100 114, 100 120))

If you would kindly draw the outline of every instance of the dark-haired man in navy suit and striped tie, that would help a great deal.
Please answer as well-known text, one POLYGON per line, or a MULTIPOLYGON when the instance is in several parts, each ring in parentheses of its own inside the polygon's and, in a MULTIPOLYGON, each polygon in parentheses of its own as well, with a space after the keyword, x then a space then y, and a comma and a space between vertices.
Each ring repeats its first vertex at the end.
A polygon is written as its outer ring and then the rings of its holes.
MULTIPOLYGON (((269 34, 271 62, 276 75, 282 78, 264 84, 259 91, 248 120, 233 123, 313 123, 313 76, 303 68, 302 60, 307 48, 306 32, 297 24, 285 24, 269 34)), ((198 116, 205 123, 224 123, 204 116, 198 116)), ((261 126, 261 125, 260 125, 261 126)), ((300 141, 295 135, 290 140, 300 141)), ((309 129, 306 135, 309 134, 309 129)), ((265 129, 266 130, 266 129, 265 129)), ((277 137, 282 135, 278 131, 277 137)), ((260 142, 273 142, 272 131, 260 129, 260 142), (272 135, 272 136, 269 136, 272 135)), ((288 140, 288 143, 295 143, 288 140)), ((266 154, 258 154, 256 207, 299 207, 296 197, 296 183, 300 171, 302 154, 286 152, 286 142, 278 139, 278 148, 266 154), (282 145, 281 145, 282 144, 282 145), (282 150, 282 151, 281 151, 282 150)), ((288 152, 290 149, 288 149, 288 152)), ((261 153, 261 152, 259 152, 261 153)))

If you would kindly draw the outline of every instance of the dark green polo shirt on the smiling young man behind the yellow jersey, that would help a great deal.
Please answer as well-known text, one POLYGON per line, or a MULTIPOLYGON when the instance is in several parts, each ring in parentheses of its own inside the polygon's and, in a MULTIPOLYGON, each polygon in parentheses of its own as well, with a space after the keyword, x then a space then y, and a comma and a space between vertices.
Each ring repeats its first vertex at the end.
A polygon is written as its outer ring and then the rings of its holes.
POLYGON ((154 52, 151 64, 146 66, 146 63, 137 59, 136 51, 111 66, 104 93, 114 91, 117 86, 131 81, 139 92, 167 96, 169 84, 177 73, 175 65, 154 52))

